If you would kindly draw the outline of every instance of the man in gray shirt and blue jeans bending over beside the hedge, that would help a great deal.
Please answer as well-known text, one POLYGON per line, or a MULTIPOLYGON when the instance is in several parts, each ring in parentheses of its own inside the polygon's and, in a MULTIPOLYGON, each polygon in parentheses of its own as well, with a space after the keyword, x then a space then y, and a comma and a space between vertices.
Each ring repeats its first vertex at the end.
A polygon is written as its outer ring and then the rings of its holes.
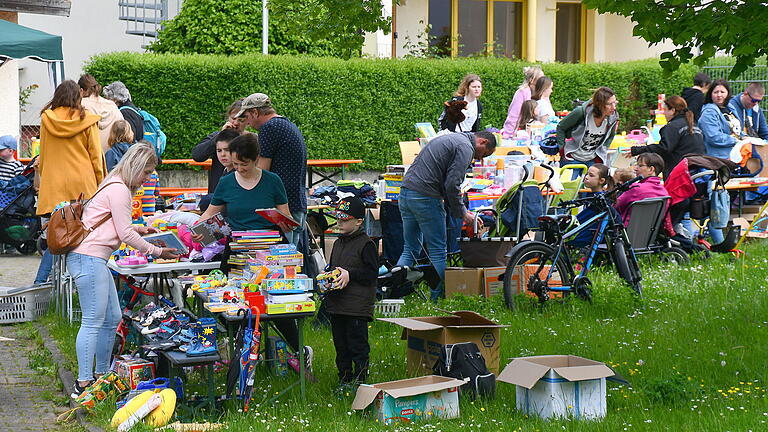
MULTIPOLYGON (((461 183, 474 159, 496 150, 496 137, 489 132, 452 133, 429 142, 405 173, 400 188, 403 219, 403 254, 397 265, 413 265, 426 242, 432 265, 445 279, 445 214, 472 223, 474 214, 461 199, 461 183)), ((443 284, 432 290, 432 300, 443 295, 443 284)))

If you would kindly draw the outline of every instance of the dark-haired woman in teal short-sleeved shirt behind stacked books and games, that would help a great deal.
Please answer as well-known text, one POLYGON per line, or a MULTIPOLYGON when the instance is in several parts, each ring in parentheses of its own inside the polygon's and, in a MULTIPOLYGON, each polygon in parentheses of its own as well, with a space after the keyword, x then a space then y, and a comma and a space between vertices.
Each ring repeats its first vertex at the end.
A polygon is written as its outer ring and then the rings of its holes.
MULTIPOLYGON (((257 209, 276 208, 291 214, 283 181, 276 174, 256 167, 259 150, 259 139, 252 133, 240 135, 229 143, 235 172, 219 180, 211 205, 200 217, 201 220, 226 210, 225 218, 232 230, 246 231, 275 226, 256 214, 257 209)), ((291 229, 278 226, 283 232, 291 229)))

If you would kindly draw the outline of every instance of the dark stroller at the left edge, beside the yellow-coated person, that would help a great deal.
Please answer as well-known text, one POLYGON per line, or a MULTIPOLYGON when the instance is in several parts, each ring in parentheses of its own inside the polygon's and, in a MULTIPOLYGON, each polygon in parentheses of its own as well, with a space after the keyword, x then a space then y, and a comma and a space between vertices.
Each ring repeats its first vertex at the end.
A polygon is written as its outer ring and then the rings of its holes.
POLYGON ((21 174, 0 182, 0 244, 13 246, 24 255, 38 250, 37 241, 41 234, 33 184, 35 159, 21 174))

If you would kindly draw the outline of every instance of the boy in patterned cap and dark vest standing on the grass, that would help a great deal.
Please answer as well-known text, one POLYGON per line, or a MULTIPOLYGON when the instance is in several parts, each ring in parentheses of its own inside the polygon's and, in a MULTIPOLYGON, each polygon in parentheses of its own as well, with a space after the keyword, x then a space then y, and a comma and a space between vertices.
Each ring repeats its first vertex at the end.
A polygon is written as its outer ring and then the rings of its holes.
POLYGON ((379 258, 363 228, 365 205, 359 198, 339 201, 331 216, 336 217, 341 235, 333 244, 329 267, 341 274, 325 302, 336 348, 339 390, 344 391, 364 383, 368 376, 368 323, 373 321, 379 258))

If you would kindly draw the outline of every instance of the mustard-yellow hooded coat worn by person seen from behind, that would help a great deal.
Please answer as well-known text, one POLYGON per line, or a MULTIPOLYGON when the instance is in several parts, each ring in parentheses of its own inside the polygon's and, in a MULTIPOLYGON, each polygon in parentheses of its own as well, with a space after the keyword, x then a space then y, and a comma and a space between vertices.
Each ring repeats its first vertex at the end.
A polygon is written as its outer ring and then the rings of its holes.
POLYGON ((99 142, 99 119, 67 107, 40 116, 40 191, 37 214, 53 211, 62 201, 89 198, 107 171, 99 142))

